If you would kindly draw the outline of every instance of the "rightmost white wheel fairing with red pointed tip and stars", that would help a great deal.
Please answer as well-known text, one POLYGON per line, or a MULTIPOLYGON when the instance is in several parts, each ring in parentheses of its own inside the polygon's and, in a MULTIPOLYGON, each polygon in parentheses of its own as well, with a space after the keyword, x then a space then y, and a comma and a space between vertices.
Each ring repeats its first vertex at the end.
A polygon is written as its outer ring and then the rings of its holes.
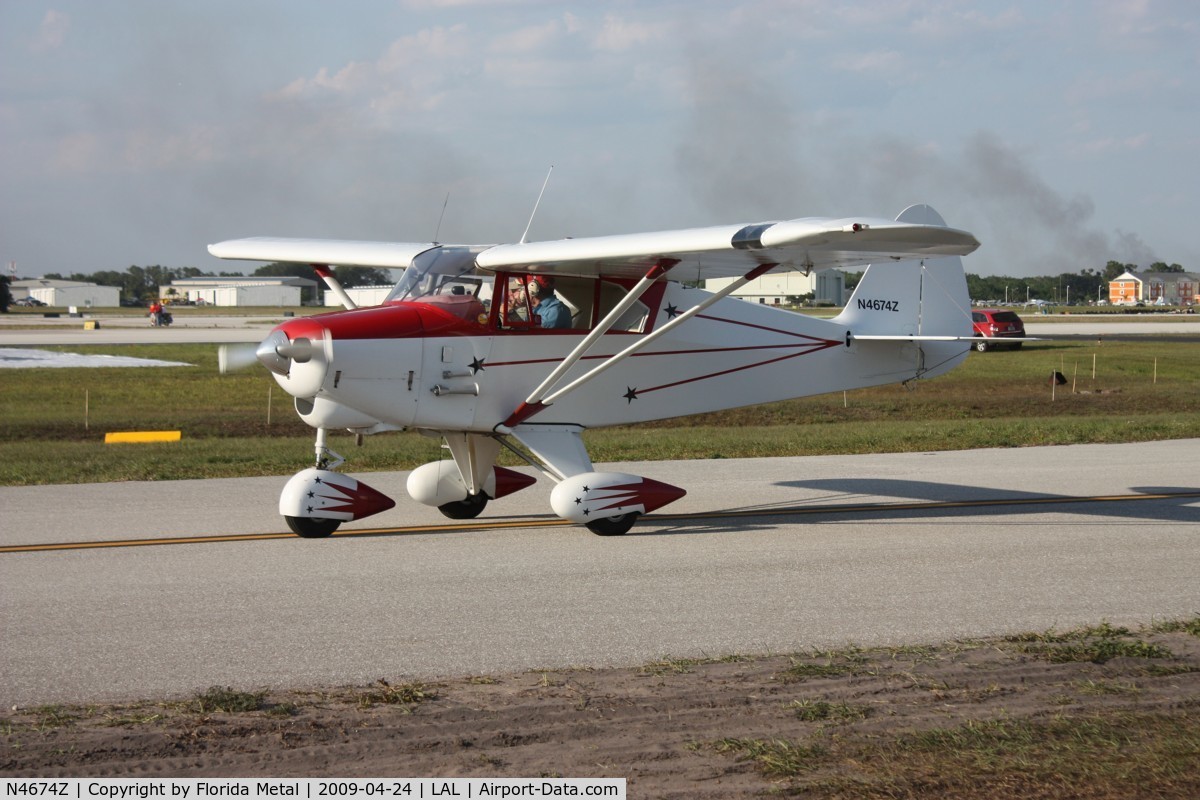
POLYGON ((556 486, 550 505, 563 519, 587 524, 626 513, 649 513, 685 494, 678 486, 641 475, 583 473, 556 486))

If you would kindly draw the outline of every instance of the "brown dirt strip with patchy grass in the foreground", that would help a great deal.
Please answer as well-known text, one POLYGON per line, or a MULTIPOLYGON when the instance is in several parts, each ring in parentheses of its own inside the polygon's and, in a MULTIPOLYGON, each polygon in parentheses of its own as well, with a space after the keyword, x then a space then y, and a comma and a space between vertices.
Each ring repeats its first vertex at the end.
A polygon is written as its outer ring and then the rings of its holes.
POLYGON ((14 709, 0 716, 0 776, 605 776, 628 778, 630 798, 1195 798, 1200 618, 14 709))

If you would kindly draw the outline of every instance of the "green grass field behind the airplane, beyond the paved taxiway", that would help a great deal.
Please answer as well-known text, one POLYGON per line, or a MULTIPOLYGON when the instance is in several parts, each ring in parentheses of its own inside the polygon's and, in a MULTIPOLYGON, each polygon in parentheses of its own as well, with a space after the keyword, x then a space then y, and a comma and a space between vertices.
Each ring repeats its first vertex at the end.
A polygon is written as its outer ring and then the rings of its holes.
MULTIPOLYGON (((1045 342, 972 353, 948 375, 589 431, 596 462, 962 450, 1200 437, 1195 337, 1045 342), (1094 365, 1094 378, 1093 378, 1094 365), (1067 384, 1051 391, 1060 372, 1067 384)), ((54 348, 47 348, 54 349, 54 348)), ((172 361, 175 368, 7 369, 0 485, 284 475, 311 459, 312 429, 265 371, 220 375, 211 345, 59 348, 172 361), (176 444, 106 445, 109 431, 182 431, 176 444)), ((415 433, 334 434, 348 469, 442 457, 415 433)), ((512 462, 515 463, 515 462, 512 462)))

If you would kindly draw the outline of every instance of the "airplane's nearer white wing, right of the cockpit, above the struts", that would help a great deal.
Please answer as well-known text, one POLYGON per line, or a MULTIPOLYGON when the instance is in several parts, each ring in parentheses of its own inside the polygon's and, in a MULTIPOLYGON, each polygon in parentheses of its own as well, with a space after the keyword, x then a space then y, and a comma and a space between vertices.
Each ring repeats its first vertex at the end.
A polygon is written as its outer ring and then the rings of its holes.
POLYGON ((966 255, 979 247, 965 230, 892 219, 806 217, 749 225, 497 245, 479 254, 484 270, 518 267, 552 275, 641 277, 662 261, 689 278, 740 277, 750 270, 824 270, 888 259, 966 255))

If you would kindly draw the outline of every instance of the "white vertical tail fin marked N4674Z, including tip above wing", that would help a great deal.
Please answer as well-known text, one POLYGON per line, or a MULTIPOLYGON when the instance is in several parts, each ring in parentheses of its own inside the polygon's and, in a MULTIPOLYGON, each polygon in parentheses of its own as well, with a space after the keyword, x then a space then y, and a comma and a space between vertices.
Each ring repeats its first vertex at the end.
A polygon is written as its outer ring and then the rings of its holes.
MULTIPOLYGON (((928 205, 911 205, 896 222, 946 227, 928 205)), ((859 336, 971 336, 971 297, 958 255, 866 267, 845 311, 833 321, 859 336)))

